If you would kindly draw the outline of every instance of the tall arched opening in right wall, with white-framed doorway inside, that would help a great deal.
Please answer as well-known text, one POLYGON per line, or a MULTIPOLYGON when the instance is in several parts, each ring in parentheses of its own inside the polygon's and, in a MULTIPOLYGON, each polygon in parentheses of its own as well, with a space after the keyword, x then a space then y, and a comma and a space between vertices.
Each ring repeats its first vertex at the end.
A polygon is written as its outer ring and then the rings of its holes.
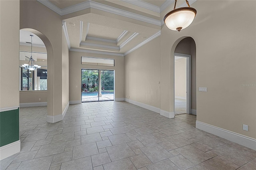
POLYGON ((196 115, 196 43, 194 39, 183 36, 176 40, 170 57, 173 68, 171 69, 173 112, 175 115, 184 113, 196 115), (178 84, 177 81, 180 79, 182 81, 178 84))

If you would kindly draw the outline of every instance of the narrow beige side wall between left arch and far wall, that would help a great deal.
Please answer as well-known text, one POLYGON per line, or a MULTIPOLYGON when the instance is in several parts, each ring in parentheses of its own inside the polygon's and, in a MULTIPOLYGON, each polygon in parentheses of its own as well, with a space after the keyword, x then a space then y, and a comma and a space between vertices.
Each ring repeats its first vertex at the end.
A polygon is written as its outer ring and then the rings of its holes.
POLYGON ((62 29, 62 113, 69 102, 69 51, 62 29))

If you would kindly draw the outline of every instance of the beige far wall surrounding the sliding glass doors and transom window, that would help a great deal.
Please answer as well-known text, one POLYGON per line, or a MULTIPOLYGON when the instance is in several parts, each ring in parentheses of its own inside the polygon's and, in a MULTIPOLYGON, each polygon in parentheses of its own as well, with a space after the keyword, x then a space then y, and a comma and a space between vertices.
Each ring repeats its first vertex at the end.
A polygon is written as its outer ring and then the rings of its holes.
POLYGON ((81 101, 81 69, 115 70, 115 98, 124 97, 124 57, 69 51, 69 101, 81 101), (81 56, 115 59, 115 66, 82 65, 81 56))

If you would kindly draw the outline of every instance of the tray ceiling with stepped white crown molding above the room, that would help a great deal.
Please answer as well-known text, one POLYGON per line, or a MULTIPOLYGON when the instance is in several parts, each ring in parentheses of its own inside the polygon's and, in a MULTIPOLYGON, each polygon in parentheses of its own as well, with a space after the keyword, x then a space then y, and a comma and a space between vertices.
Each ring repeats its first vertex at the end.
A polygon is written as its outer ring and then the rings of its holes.
MULTIPOLYGON (((38 0, 60 14, 70 51, 124 56, 160 35, 174 0, 38 0), (89 12, 85 9, 90 9, 89 12), (79 11, 79 12, 78 12, 79 11), (166 13, 166 12, 163 12, 166 13), (68 15, 67 15, 68 14, 68 15)), ((190 5, 195 0, 190 0, 190 5)), ((178 1, 177 6, 186 5, 178 1)), ((172 7, 173 8, 173 7, 172 7)))

